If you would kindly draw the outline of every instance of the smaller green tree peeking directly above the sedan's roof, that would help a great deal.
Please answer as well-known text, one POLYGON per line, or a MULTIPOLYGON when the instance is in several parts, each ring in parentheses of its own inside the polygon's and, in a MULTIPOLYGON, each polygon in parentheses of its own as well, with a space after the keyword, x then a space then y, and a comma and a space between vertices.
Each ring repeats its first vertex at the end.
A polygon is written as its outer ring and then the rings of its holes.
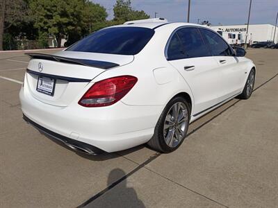
POLYGON ((125 21, 131 21, 136 19, 149 19, 143 10, 133 10, 131 8, 131 0, 117 0, 114 10, 114 21, 118 24, 123 24, 125 21))

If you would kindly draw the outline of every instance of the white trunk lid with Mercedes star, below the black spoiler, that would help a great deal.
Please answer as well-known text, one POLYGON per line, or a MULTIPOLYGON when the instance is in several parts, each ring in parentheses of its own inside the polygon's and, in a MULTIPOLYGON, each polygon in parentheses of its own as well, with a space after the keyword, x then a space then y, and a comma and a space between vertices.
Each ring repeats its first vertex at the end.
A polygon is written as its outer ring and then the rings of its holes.
MULTIPOLYGON (((74 78, 83 78, 92 80, 99 73, 103 73, 104 69, 98 69, 93 67, 79 66, 79 69, 76 69, 76 65, 59 63, 51 60, 40 60, 32 59, 28 64, 28 69, 31 71, 39 72, 38 64, 43 63, 43 73, 56 75, 56 76, 65 76, 65 77, 74 77, 74 78)), ((49 103, 51 105, 58 106, 67 106, 72 102, 72 99, 79 95, 84 87, 88 83, 69 83, 65 80, 56 80, 55 94, 54 96, 49 96, 47 94, 42 94, 36 91, 38 83, 38 75, 31 73, 26 73, 26 87, 30 90, 30 94, 39 101, 43 103, 49 103)))

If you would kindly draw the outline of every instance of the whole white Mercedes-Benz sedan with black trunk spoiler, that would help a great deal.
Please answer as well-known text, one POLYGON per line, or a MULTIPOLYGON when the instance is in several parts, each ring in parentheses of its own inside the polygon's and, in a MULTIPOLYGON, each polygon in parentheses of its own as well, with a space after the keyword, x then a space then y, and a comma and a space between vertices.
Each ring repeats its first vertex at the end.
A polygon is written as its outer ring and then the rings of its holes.
POLYGON ((251 96, 256 68, 206 26, 164 19, 101 29, 54 55, 28 53, 24 120, 90 155, 179 148, 188 125, 251 96))

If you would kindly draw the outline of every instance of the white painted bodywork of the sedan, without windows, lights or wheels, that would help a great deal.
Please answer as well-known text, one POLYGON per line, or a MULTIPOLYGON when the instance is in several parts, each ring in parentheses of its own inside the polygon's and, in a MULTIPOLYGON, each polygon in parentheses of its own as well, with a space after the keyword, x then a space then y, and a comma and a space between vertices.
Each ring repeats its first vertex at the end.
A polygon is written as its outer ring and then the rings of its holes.
POLYGON ((106 152, 124 150, 151 139, 165 105, 177 94, 190 96, 192 122, 240 94, 250 70, 255 67, 251 60, 244 57, 211 56, 167 61, 165 46, 172 32, 180 26, 199 27, 196 24, 152 21, 121 26, 157 28, 152 39, 136 55, 73 51, 55 54, 66 58, 113 62, 119 64, 118 67, 99 69, 31 59, 28 64, 31 71, 40 73, 38 64, 42 62, 45 74, 90 81, 71 83, 57 80, 54 96, 48 96, 35 89, 38 75, 26 73, 24 87, 19 94, 24 115, 59 135, 106 152), (226 63, 220 64, 223 59, 226 63), (194 70, 183 69, 191 65, 195 66, 194 70), (83 107, 78 104, 94 83, 123 75, 135 76, 138 82, 117 103, 106 107, 83 107))

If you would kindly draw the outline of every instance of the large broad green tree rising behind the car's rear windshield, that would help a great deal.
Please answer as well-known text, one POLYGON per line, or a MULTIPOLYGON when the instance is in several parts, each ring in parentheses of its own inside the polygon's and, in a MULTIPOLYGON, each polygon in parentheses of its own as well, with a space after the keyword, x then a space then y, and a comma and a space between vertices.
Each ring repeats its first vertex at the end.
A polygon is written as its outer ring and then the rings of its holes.
POLYGON ((30 8, 35 27, 44 35, 54 35, 58 47, 63 38, 79 40, 90 25, 107 17, 105 8, 88 0, 31 0, 30 8))

